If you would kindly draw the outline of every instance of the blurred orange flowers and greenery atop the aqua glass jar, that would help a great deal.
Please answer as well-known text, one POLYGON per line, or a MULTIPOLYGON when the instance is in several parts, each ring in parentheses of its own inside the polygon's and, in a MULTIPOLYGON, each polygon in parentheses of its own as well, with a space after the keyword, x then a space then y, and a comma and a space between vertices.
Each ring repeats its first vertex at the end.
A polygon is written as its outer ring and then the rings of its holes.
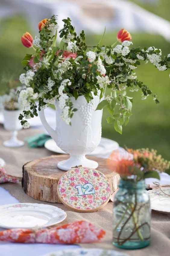
POLYGON ((122 179, 135 182, 146 178, 160 179, 159 172, 165 172, 170 167, 170 161, 157 155, 154 149, 127 149, 127 152, 125 157, 113 152, 107 160, 109 169, 119 173, 122 179))

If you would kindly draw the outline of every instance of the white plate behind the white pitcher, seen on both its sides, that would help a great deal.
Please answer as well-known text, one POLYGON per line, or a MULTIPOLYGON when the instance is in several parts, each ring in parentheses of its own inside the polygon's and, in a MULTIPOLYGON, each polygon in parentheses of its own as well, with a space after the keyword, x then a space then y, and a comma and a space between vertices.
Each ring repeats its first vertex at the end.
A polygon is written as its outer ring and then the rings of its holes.
MULTIPOLYGON (((53 139, 49 139, 46 141, 45 143, 45 148, 55 152, 55 153, 60 153, 60 154, 66 154, 64 151, 62 151, 62 149, 60 149, 55 141, 53 139)), ((96 156, 96 155, 100 155, 100 154, 109 154, 111 153, 113 150, 116 150, 119 148, 119 144, 117 142, 115 142, 112 139, 106 139, 106 138, 101 138, 101 141, 99 143, 99 146, 97 146, 97 148, 90 153, 90 156, 96 156)))

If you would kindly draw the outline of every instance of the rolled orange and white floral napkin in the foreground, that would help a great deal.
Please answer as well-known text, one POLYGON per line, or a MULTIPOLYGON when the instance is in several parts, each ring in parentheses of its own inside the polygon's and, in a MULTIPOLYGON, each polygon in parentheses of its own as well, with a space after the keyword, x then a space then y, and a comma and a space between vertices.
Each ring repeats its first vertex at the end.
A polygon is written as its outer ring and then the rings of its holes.
POLYGON ((77 244, 99 242, 105 231, 86 221, 39 230, 15 228, 0 231, 0 241, 15 243, 77 244))

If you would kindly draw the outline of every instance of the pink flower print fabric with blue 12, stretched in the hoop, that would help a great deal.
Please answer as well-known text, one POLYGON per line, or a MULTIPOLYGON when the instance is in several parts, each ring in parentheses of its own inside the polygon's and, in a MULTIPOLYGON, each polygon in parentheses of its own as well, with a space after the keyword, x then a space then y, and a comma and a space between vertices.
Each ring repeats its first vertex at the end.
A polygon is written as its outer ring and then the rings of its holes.
POLYGON ((95 211, 109 201, 110 183, 98 170, 78 167, 66 172, 58 182, 61 201, 76 211, 95 211))

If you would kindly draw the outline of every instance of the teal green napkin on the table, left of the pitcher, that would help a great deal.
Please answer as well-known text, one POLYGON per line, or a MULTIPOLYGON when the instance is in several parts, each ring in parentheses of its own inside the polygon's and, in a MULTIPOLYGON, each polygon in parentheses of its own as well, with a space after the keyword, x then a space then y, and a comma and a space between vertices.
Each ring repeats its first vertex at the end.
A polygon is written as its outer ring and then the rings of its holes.
POLYGON ((35 136, 27 137, 25 138, 25 141, 27 141, 29 148, 38 148, 44 147, 44 144, 48 139, 51 139, 51 136, 42 133, 35 136))

